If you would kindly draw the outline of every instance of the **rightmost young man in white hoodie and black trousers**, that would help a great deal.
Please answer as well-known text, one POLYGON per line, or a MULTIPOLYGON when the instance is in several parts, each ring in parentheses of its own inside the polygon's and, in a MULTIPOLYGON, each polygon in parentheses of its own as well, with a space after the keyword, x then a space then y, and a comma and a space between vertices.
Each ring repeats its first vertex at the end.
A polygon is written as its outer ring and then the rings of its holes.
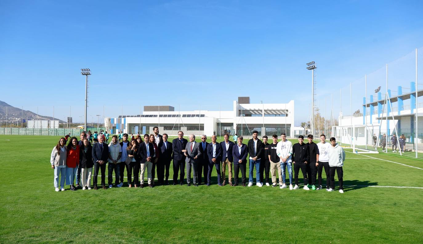
POLYGON ((335 170, 339 180, 339 192, 343 193, 343 161, 345 160, 345 151, 336 143, 335 137, 330 138, 329 153, 329 174, 330 174, 330 188, 327 191, 335 189, 335 170))

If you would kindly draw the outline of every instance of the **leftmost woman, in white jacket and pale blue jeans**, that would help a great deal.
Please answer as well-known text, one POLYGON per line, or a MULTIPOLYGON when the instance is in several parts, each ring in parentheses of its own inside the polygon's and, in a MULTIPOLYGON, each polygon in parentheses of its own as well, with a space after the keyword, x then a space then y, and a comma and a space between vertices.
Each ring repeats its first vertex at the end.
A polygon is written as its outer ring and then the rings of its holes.
POLYGON ((60 190, 64 191, 65 179, 66 179, 66 139, 60 138, 58 144, 53 147, 52 154, 50 156, 50 163, 52 169, 54 169, 54 187, 55 191, 59 191, 59 175, 60 179, 60 190))

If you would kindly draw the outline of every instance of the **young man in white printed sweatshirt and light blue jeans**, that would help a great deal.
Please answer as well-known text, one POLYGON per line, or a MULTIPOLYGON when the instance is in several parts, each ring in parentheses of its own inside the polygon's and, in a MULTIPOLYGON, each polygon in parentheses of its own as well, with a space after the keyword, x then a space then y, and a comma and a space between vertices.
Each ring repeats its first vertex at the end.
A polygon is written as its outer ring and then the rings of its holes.
POLYGON ((286 134, 282 133, 280 135, 280 137, 282 138, 282 141, 279 141, 277 143, 277 149, 276 149, 276 154, 279 156, 280 158, 280 170, 282 173, 282 186, 280 186, 280 189, 286 188, 286 184, 285 184, 285 168, 286 166, 288 166, 288 174, 289 174, 289 189, 292 190, 294 189, 292 187, 292 143, 291 141, 288 141, 286 139, 286 134))

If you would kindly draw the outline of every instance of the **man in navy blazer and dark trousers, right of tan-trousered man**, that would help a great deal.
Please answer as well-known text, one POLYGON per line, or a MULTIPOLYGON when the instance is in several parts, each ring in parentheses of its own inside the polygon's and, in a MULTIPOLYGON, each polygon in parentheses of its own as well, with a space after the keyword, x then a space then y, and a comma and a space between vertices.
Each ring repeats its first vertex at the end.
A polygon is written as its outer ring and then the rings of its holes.
POLYGON ((242 136, 237 138, 237 144, 232 148, 232 155, 233 155, 233 170, 235 171, 234 176, 234 184, 233 186, 238 186, 238 175, 239 169, 241 169, 242 175, 242 186, 245 186, 246 177, 245 174, 247 172, 247 145, 242 144, 242 136))

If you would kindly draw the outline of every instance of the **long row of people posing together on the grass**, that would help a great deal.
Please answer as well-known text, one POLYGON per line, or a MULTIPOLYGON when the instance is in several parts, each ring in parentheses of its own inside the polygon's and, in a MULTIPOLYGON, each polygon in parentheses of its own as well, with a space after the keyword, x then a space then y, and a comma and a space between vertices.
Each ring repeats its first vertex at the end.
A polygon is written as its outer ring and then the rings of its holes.
POLYGON ((258 132, 253 131, 253 138, 243 144, 243 137, 237 136, 236 143, 229 141, 229 135, 224 135, 224 141, 217 142, 215 135, 211 142, 207 136, 201 136, 201 142, 195 141, 195 135, 189 140, 184 139, 184 133, 178 132, 178 138, 168 141, 168 135, 159 134, 159 128, 153 128, 153 134, 145 134, 143 138, 137 136, 128 140, 128 134, 122 134, 122 141, 118 136, 112 136, 110 144, 104 142, 104 137, 98 136, 98 142, 91 145, 85 132, 80 134, 80 141, 72 137, 66 146, 66 139, 60 138, 53 148, 50 163, 54 169, 55 191, 64 191, 64 185, 71 190, 82 187, 91 189, 91 175, 94 168, 93 189, 97 187, 97 177, 101 172, 101 187, 107 189, 105 182, 106 164, 108 163, 108 188, 124 185, 124 169, 128 187, 154 187, 157 169, 157 184, 169 185, 169 168, 173 160, 173 185, 198 186, 204 182, 207 186, 212 183, 213 168, 217 172, 218 186, 238 186, 241 171, 242 186, 253 186, 254 167, 256 170, 256 186, 279 186, 287 188, 286 168, 289 175, 289 189, 299 189, 298 174, 301 169, 304 177, 305 190, 320 190, 322 186, 322 172, 326 173, 326 190, 335 189, 335 171, 338 174, 339 191, 343 193, 343 161, 345 152, 336 143, 335 138, 326 142, 326 136, 320 136, 318 144, 313 142, 313 135, 308 135, 308 143, 304 137, 298 137, 298 143, 292 144, 286 139, 286 134, 272 136, 272 144, 268 137, 263 141, 258 139, 258 132), (249 182, 246 182, 247 157, 249 162, 249 182), (294 166, 294 185, 292 168, 294 166), (228 169, 228 170, 227 170, 228 169), (147 183, 144 180, 147 171, 147 183), (113 182, 113 172, 115 179, 113 182), (271 181, 269 181, 269 172, 271 181), (186 178, 185 178, 186 173, 186 178), (226 174, 228 173, 228 178, 226 174), (233 174, 232 174, 233 173, 233 174), (191 179, 191 174, 193 175, 191 179), (179 176, 179 181, 178 181, 179 176), (278 176, 278 179, 277 179, 278 176), (318 176, 318 183, 316 178, 318 176), (60 189, 59 189, 59 177, 60 189), (74 185, 75 181, 75 185, 74 185), (113 184, 114 183, 114 184, 113 184), (272 183, 272 184, 270 184, 272 183))

